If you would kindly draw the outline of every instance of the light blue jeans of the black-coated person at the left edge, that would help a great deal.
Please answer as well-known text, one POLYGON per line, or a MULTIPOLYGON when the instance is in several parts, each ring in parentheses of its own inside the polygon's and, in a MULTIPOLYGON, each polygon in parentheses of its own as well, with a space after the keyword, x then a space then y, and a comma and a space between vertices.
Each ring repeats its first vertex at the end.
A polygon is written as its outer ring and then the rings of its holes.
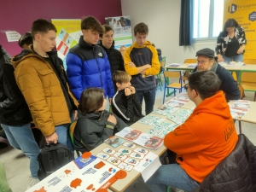
POLYGON ((35 141, 30 124, 20 126, 1 124, 1 126, 5 131, 10 145, 21 150, 29 158, 29 167, 32 177, 38 178, 39 164, 37 157, 38 154, 40 154, 40 149, 35 141))

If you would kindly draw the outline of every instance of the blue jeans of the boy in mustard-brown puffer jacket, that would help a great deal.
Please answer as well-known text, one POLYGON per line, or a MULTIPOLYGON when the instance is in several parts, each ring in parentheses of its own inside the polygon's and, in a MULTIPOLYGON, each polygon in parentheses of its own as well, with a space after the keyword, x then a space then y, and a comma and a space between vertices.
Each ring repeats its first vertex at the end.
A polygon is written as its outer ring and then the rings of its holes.
POLYGON ((71 142, 68 132, 69 125, 70 124, 55 126, 55 131, 58 135, 58 142, 67 146, 67 148, 73 152, 73 144, 71 142))

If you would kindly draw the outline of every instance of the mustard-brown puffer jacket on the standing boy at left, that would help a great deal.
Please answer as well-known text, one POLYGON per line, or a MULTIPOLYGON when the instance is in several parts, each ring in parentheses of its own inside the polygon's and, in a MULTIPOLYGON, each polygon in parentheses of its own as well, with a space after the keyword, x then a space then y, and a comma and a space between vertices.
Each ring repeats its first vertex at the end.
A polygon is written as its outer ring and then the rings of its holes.
POLYGON ((15 67, 16 83, 26 99, 35 125, 42 131, 44 137, 53 134, 56 125, 71 123, 61 82, 67 89, 73 109, 79 104, 70 93, 67 81, 65 82, 66 74, 57 52, 50 51, 47 54, 58 71, 61 71, 60 79, 49 62, 32 51, 32 45, 29 49, 24 49, 20 55, 15 55, 11 61, 15 67))

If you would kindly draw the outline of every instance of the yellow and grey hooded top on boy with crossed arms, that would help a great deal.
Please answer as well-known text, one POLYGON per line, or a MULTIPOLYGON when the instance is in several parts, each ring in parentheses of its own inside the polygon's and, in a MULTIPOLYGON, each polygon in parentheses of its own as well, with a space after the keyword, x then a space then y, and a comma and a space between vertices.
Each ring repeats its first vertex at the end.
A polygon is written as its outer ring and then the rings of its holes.
POLYGON ((149 41, 146 41, 143 46, 138 46, 137 42, 131 44, 125 50, 124 59, 125 71, 131 75, 131 84, 136 90, 151 90, 156 86, 154 75, 160 72, 160 61, 156 49, 149 41), (133 62, 136 67, 131 67, 130 62, 133 62), (151 68, 146 69, 146 76, 143 76, 138 73, 137 67, 146 64, 151 65, 151 68))

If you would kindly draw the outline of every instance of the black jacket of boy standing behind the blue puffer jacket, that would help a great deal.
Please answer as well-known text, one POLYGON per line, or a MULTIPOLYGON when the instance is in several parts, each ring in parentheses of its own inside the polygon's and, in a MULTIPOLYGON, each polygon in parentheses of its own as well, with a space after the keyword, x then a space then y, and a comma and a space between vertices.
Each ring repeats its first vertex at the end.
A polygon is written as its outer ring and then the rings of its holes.
POLYGON ((110 63, 112 76, 113 73, 115 73, 116 71, 125 71, 123 56, 118 49, 114 49, 114 41, 111 45, 111 48, 109 49, 103 46, 101 40, 99 41, 98 45, 100 45, 108 55, 108 61, 110 63))

